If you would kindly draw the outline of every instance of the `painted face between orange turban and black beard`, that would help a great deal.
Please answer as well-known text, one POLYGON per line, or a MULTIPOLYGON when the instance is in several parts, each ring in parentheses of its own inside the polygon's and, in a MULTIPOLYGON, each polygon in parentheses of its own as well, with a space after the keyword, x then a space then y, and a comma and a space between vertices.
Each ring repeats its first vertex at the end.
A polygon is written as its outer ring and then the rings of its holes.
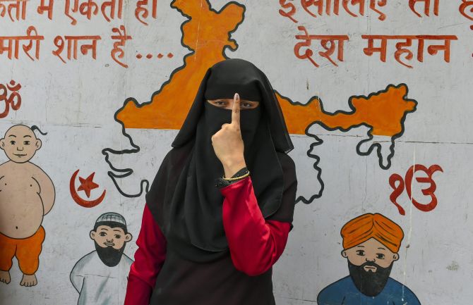
MULTIPOLYGON (((355 266, 361 266, 366 262, 376 263, 382 268, 388 268, 393 261, 399 259, 399 254, 394 253, 378 240, 371 238, 357 244, 355 247, 342 251, 342 256, 347 258, 355 266)), ((376 266, 365 266, 366 272, 376 272, 376 266)))

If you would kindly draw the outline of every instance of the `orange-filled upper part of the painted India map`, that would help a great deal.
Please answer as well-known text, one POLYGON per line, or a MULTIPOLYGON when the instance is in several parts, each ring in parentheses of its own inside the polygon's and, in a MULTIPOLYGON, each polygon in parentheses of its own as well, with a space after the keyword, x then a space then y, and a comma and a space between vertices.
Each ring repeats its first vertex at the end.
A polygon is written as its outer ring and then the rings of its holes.
MULTIPOLYGON (((133 99, 125 101, 116 112, 116 120, 125 128, 179 130, 206 70, 225 59, 225 47, 237 47, 230 35, 244 20, 245 7, 241 4, 231 2, 218 12, 203 0, 176 0, 171 5, 190 16, 182 26, 182 42, 193 53, 184 58, 184 66, 174 71, 169 82, 153 94, 149 103, 137 104, 133 99), (179 103, 169 103, 169 100, 179 103)), ((320 123, 329 130, 349 130, 364 124, 372 127, 371 135, 394 137, 402 133, 402 118, 416 106, 415 101, 407 99, 404 84, 390 85, 368 97, 352 97, 349 101, 351 112, 326 113, 316 97, 307 104, 299 104, 280 94, 276 96, 289 133, 297 135, 303 135, 309 125, 320 123)))

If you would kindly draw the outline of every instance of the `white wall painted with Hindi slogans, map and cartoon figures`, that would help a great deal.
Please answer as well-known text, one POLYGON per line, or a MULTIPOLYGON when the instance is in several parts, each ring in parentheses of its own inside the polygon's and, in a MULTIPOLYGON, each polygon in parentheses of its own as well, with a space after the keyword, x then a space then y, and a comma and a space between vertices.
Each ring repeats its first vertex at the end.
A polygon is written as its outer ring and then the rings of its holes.
POLYGON ((277 304, 324 304, 347 262, 370 255, 393 262, 405 285, 393 299, 470 304, 472 9, 0 1, 0 304, 77 304, 84 281, 103 276, 115 279, 105 304, 119 304, 149 181, 203 73, 225 57, 268 75, 294 142, 298 203, 277 304), (342 237, 344 225, 354 229, 342 237), (125 248, 112 270, 113 251, 94 251, 116 228, 112 247, 125 248))

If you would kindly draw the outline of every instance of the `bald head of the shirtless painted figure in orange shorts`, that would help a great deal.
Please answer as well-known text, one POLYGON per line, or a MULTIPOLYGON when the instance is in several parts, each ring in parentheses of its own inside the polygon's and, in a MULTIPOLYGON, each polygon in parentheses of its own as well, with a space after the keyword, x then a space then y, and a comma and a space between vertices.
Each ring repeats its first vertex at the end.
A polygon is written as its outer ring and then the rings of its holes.
POLYGON ((5 151, 6 156, 16 163, 29 161, 38 149, 41 148, 41 140, 37 139, 35 132, 25 125, 11 127, 0 139, 0 148, 5 151))

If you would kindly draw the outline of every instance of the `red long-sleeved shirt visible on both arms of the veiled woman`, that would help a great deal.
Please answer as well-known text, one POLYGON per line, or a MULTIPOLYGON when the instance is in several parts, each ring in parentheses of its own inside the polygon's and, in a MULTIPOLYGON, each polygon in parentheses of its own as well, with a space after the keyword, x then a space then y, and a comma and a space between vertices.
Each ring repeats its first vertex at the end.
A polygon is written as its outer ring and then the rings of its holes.
MULTIPOLYGON (((232 262, 247 275, 265 273, 284 251, 289 223, 265 220, 258 207, 251 178, 220 189, 224 196, 222 219, 232 262)), ((146 305, 157 274, 166 259, 166 239, 151 215, 143 211, 138 249, 131 265, 125 305, 146 305)))

